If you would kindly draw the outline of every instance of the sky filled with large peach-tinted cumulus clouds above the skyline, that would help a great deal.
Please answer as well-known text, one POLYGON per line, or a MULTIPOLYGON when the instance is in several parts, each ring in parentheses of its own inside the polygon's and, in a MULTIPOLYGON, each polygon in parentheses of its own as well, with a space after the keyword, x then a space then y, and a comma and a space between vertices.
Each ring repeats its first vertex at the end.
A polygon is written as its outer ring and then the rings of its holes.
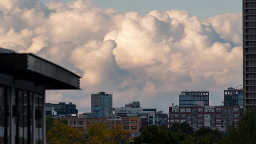
POLYGON ((0 47, 82 76, 82 90, 46 91, 80 114, 92 93, 168 113, 182 91, 209 91, 219 106, 242 84, 240 0, 2 0, 0 21, 0 47))

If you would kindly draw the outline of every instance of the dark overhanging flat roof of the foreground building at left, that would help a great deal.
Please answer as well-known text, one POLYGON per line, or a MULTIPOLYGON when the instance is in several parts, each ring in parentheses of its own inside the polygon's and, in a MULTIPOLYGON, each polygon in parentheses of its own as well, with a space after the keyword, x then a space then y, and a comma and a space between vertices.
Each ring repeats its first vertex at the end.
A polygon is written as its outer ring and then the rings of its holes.
POLYGON ((0 72, 46 89, 80 89, 80 76, 34 54, 0 53, 0 72))

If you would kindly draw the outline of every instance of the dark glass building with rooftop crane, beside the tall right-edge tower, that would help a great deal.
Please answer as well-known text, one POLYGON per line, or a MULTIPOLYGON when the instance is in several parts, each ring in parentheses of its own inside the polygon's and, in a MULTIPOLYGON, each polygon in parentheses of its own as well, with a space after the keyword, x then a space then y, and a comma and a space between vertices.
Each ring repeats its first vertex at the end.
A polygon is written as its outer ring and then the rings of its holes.
POLYGON ((243 89, 224 90, 224 106, 243 106, 243 89))

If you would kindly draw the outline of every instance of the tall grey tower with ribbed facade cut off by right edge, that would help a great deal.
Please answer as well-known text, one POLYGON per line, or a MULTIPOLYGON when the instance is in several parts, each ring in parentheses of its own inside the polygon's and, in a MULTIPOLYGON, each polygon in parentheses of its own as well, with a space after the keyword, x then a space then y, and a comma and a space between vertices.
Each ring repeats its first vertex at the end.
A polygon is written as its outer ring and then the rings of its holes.
POLYGON ((256 0, 243 0, 244 110, 256 105, 256 0))

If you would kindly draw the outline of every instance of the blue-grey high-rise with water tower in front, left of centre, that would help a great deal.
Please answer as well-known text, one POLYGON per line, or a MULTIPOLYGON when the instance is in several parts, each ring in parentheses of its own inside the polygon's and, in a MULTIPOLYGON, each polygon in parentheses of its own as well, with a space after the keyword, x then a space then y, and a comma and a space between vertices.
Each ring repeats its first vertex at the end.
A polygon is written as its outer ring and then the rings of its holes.
POLYGON ((92 114, 94 116, 109 116, 113 103, 112 94, 99 92, 98 94, 92 94, 91 98, 92 114))

